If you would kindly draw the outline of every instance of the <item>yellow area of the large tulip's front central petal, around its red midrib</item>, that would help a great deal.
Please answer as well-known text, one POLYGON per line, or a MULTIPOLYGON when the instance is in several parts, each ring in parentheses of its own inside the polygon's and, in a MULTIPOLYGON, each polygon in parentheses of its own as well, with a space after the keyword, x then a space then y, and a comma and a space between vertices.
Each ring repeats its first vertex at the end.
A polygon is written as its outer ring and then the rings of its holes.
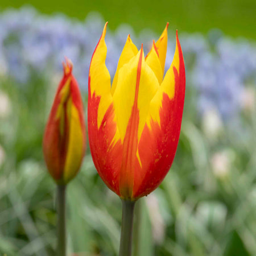
MULTIPOLYGON (((125 138, 127 124, 131 115, 131 109, 134 105, 137 68, 140 53, 141 50, 129 61, 129 63, 124 64, 119 70, 117 87, 113 95, 114 108, 117 115, 117 125, 122 142, 125 138)), ((158 79, 156 79, 155 73, 147 65, 143 55, 138 90, 138 139, 141 137, 142 130, 146 122, 151 99, 154 97, 158 88, 158 79)))

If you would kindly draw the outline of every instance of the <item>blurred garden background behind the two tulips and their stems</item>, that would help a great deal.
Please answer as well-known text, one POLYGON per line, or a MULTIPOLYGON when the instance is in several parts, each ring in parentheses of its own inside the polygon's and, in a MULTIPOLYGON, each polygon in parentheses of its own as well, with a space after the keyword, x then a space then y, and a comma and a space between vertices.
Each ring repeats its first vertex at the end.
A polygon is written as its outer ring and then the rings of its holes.
MULTIPOLYGON (((0 255, 55 255, 56 187, 42 136, 61 61, 86 106, 90 58, 109 21, 113 77, 128 34, 146 51, 170 22, 166 68, 183 48, 187 89, 174 164, 137 204, 134 256, 256 255, 256 2, 1 1, 0 255)), ((69 255, 117 255, 121 201, 89 147, 68 185, 69 255)))

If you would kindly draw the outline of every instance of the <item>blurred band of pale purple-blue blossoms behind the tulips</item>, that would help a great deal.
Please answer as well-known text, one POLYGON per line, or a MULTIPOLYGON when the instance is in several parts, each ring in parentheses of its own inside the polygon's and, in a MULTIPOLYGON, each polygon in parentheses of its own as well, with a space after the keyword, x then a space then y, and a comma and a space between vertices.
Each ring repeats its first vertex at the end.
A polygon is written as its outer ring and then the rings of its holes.
MULTIPOLYGON (((97 13, 88 15, 81 22, 61 14, 44 16, 28 7, 4 11, 0 14, 0 69, 5 71, 4 75, 26 84, 31 72, 47 70, 49 77, 61 72, 61 61, 67 56, 74 64, 81 88, 86 90, 90 59, 103 26, 104 20, 97 13)), ((106 65, 112 78, 128 34, 137 47, 144 43, 146 53, 152 39, 158 39, 158 35, 150 30, 135 36, 126 24, 115 32, 109 30, 106 65)), ((169 35, 166 70, 175 50, 175 31, 169 35)), ((193 85, 197 90, 199 113, 214 108, 224 119, 236 115, 241 108, 243 90, 247 85, 256 84, 255 44, 245 39, 226 38, 218 30, 210 31, 208 36, 181 34, 179 37, 187 85, 193 85)))

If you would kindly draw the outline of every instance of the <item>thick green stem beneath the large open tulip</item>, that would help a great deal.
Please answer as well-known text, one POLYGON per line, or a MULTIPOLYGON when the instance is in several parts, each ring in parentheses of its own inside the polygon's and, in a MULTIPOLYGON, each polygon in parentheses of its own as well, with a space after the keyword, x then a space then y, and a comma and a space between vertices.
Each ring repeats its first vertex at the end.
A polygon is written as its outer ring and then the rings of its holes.
POLYGON ((122 200, 122 228, 119 256, 131 256, 135 201, 122 200))

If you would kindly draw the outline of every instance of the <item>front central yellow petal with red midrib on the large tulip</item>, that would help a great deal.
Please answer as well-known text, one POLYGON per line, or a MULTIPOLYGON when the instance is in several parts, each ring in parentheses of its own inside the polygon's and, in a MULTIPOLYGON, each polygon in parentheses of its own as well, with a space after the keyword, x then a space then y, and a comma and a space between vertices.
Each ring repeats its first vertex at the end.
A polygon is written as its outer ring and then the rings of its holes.
POLYGON ((141 49, 119 70, 113 95, 117 125, 123 144, 120 193, 129 198, 133 192, 134 164, 140 164, 138 141, 145 125, 150 102, 159 88, 155 73, 146 64, 141 49))

